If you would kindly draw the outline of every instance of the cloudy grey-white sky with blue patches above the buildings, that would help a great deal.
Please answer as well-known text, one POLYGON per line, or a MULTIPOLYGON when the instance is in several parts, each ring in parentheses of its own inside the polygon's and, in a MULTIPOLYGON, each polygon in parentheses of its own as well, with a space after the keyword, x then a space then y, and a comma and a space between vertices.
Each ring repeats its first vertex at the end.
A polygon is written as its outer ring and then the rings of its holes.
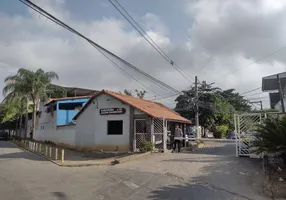
MULTIPOLYGON (((166 62, 107 0, 33 0, 60 20, 134 66, 177 90, 200 81, 243 93, 261 87, 263 76, 286 70, 286 2, 283 0, 118 0, 172 60, 166 62), (259 61, 258 61, 259 60, 259 61), (258 62, 257 62, 258 61, 258 62)), ((95 48, 28 9, 0 2, 0 88, 19 68, 55 71, 55 83, 71 87, 146 90, 147 98, 168 95, 140 75, 126 76, 95 48), (2 81, 1 81, 2 80, 2 81)), ((261 90, 248 93, 263 100, 261 90)), ((0 100, 3 96, 0 96, 0 100)), ((160 102, 174 106, 174 98, 160 102)))

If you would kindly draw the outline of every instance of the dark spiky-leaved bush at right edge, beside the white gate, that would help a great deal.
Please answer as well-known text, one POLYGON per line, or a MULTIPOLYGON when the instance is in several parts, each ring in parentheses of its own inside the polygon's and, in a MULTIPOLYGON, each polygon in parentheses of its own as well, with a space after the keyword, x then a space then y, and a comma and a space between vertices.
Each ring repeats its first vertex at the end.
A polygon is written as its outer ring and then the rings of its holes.
POLYGON ((286 117, 268 118, 258 125, 252 143, 256 153, 278 153, 286 164, 286 117))

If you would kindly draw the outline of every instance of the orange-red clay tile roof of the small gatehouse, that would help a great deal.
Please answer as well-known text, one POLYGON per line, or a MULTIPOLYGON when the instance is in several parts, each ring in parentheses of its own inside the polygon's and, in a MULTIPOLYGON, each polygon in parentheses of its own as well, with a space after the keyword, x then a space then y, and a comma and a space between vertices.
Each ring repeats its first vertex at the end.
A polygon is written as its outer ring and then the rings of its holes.
POLYGON ((167 108, 166 106, 156 103, 149 100, 140 99, 137 97, 120 94, 117 92, 112 92, 108 90, 102 90, 101 92, 93 95, 87 103, 82 107, 82 109, 77 113, 77 115, 74 117, 74 119, 77 119, 78 116, 84 112, 85 108, 91 103, 91 101, 96 98, 97 96, 101 94, 107 94, 110 95, 126 104, 129 104, 130 106, 137 108, 138 110, 146 113, 147 115, 154 117, 154 118, 165 118, 169 120, 179 121, 179 122, 185 122, 185 123, 191 123, 190 120, 180 116, 177 112, 167 108))

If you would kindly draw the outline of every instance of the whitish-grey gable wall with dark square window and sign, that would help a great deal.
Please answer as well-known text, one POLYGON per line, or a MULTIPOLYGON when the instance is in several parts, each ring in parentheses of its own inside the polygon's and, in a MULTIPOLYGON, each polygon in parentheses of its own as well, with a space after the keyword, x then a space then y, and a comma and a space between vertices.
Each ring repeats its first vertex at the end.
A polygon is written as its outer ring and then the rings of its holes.
POLYGON ((76 146, 103 150, 128 150, 130 132, 130 107, 110 97, 100 95, 89 104, 76 121, 76 146), (125 108, 125 114, 100 115, 104 108, 125 108), (107 135, 108 120, 123 120, 122 135, 107 135))

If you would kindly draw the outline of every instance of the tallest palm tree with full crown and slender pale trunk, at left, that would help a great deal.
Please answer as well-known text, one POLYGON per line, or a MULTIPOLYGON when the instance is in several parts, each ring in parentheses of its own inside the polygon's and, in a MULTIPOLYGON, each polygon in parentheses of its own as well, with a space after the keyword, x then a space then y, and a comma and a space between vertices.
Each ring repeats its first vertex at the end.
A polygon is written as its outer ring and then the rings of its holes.
POLYGON ((59 79, 55 72, 45 72, 42 69, 34 72, 24 68, 19 69, 16 75, 5 79, 4 96, 10 96, 9 98, 21 97, 27 101, 32 101, 33 134, 36 131, 36 114, 39 101, 47 99, 47 91, 52 93, 52 91, 59 89, 51 84, 54 79, 59 79))

